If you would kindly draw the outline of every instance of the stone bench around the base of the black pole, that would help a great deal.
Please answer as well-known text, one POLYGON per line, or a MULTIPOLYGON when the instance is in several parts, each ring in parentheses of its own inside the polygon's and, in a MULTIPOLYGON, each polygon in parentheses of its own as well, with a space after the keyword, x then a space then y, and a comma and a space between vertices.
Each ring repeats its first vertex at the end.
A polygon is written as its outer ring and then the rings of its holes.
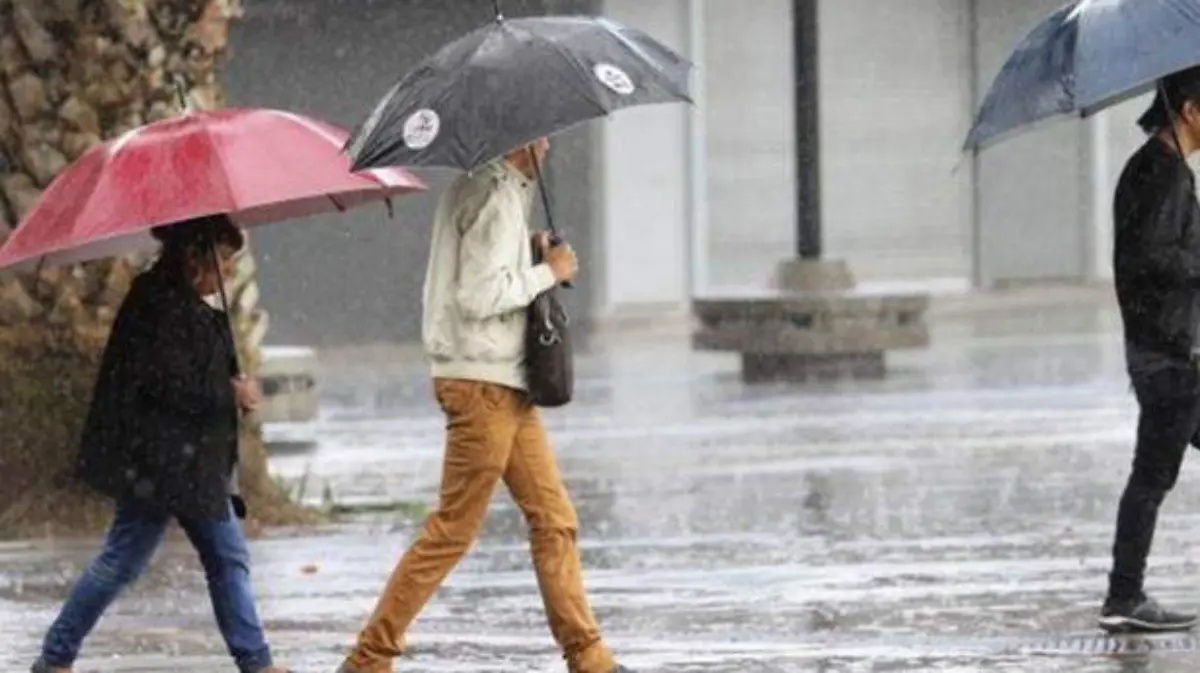
MULTIPOLYGON (((760 383, 881 378, 886 351, 929 345, 926 295, 863 293, 844 287, 853 282, 844 266, 832 274, 834 281, 815 290, 692 300, 692 347, 739 353, 743 379, 760 383)), ((780 278, 787 277, 785 268, 780 278)), ((805 284, 821 286, 811 278, 805 284)))

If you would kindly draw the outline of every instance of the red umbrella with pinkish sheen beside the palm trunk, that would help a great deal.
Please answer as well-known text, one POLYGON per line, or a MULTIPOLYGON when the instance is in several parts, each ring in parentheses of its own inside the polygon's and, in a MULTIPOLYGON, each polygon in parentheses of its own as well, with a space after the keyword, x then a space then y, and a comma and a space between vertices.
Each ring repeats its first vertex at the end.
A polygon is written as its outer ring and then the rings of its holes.
POLYGON ((0 247, 0 269, 155 250, 152 227, 204 215, 251 227, 426 188, 403 169, 350 173, 347 137, 270 109, 193 112, 134 128, 50 184, 0 247))

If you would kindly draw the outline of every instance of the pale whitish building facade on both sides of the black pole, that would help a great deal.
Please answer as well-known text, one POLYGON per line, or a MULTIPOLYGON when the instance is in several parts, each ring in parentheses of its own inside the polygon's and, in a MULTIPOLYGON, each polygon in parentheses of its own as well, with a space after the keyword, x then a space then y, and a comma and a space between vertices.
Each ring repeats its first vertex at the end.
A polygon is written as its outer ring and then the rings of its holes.
MULTIPOLYGON (((1060 0, 817 4, 824 254, 860 283, 967 290, 1111 277, 1138 100, 961 152, 1012 47, 1060 0)), ((793 0, 605 0, 692 59, 696 106, 598 124, 599 313, 764 288, 794 254, 793 0)))

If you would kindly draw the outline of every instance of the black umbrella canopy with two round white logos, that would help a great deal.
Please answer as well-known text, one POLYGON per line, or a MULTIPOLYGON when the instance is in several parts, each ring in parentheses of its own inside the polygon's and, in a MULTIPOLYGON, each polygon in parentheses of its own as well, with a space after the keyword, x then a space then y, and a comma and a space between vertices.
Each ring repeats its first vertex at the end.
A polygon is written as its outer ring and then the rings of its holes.
POLYGON ((690 71, 683 56, 610 19, 498 17, 402 78, 347 149, 356 169, 470 170, 620 108, 690 102, 690 71))

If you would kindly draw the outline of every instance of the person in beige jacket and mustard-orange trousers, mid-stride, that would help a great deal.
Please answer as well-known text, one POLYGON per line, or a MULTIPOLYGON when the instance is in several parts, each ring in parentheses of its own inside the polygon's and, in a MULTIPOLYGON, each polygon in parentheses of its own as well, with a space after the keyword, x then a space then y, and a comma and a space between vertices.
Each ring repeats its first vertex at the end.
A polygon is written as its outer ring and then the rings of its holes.
POLYGON ((529 523, 550 630, 571 673, 630 673, 616 665, 588 605, 578 519, 536 407, 526 391, 526 308, 575 277, 575 252, 540 234, 533 264, 529 214, 546 139, 461 176, 442 197, 425 278, 422 341, 446 415, 436 512, 400 560, 341 673, 384 673, 404 632, 462 559, 504 481, 529 523), (534 158, 536 157, 536 160, 534 158))

